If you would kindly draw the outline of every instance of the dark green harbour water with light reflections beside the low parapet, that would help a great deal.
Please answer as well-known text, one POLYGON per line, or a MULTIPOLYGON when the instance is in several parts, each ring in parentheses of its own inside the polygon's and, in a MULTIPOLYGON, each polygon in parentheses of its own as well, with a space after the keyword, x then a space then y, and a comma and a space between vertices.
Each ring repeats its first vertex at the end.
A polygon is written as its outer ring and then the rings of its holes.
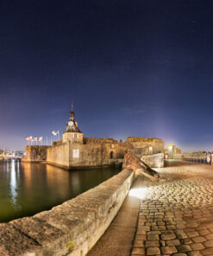
POLYGON ((39 163, 0 163, 0 222, 33 215, 116 175, 116 169, 61 170, 39 163))

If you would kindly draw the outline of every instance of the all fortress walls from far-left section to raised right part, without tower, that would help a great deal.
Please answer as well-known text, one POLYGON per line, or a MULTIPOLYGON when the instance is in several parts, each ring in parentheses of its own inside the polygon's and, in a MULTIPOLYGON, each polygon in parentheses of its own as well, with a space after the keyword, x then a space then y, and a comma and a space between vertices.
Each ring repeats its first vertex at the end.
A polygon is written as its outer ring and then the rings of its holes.
POLYGON ((122 143, 112 138, 84 138, 83 144, 60 140, 53 142, 52 146, 26 146, 23 161, 46 160, 47 163, 66 169, 87 168, 122 163, 128 150, 142 157, 153 152, 159 153, 164 146, 164 142, 156 138, 127 140, 127 143, 122 143))

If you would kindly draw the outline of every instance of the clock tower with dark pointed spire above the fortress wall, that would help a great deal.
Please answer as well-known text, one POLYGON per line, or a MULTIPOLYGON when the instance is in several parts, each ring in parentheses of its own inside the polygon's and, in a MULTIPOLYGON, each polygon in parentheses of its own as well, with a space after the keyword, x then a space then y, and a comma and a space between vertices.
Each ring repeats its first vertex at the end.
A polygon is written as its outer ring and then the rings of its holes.
POLYGON ((78 129, 78 123, 75 121, 73 104, 70 112, 70 120, 66 123, 66 131, 62 134, 62 141, 83 144, 83 133, 78 129))

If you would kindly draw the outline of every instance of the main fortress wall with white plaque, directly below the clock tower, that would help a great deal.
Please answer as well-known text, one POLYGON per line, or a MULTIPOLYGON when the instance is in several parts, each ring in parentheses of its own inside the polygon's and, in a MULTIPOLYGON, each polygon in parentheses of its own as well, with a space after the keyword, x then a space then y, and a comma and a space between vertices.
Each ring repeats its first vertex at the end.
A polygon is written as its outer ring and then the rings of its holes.
POLYGON ((61 144, 47 150, 47 163, 66 169, 119 163, 128 148, 125 144, 61 144))

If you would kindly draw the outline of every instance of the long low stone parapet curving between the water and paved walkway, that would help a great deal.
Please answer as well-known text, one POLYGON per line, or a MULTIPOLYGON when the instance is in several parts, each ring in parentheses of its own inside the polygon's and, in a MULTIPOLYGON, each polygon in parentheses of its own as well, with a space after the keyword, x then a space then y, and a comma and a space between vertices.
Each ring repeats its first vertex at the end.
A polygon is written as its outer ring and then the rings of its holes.
POLYGON ((124 169, 49 211, 0 224, 0 255, 84 256, 110 226, 134 173, 124 169))

